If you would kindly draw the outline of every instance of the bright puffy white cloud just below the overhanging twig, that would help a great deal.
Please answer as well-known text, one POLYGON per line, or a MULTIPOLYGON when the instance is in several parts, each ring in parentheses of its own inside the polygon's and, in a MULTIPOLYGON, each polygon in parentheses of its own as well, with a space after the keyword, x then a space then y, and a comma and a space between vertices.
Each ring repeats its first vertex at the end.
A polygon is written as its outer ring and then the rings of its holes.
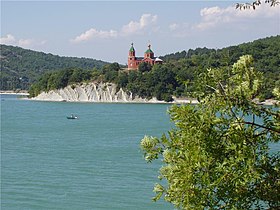
POLYGON ((223 24, 238 22, 244 20, 252 20, 256 18, 273 18, 280 16, 278 7, 270 7, 269 5, 261 5, 256 10, 239 10, 230 6, 227 8, 209 7, 200 11, 201 21, 195 24, 193 28, 199 30, 207 30, 209 28, 218 27, 223 24))

